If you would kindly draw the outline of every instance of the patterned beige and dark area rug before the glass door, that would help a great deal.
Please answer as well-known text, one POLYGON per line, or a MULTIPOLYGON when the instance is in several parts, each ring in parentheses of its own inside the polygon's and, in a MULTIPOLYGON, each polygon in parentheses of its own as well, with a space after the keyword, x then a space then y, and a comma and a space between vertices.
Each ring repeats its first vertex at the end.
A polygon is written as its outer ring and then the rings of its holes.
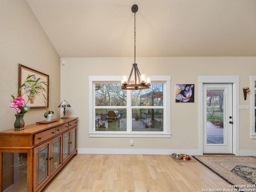
POLYGON ((254 189, 256 157, 252 156, 192 156, 230 185, 238 189, 254 189), (252 188, 252 186, 254 186, 252 188))

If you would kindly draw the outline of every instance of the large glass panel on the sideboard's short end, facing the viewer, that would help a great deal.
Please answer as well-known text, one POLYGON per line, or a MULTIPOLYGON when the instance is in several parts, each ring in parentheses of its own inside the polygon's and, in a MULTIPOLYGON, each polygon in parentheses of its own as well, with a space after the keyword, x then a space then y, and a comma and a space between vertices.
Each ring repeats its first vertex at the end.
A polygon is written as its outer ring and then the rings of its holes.
POLYGON ((27 153, 2 153, 2 192, 27 191, 27 153))

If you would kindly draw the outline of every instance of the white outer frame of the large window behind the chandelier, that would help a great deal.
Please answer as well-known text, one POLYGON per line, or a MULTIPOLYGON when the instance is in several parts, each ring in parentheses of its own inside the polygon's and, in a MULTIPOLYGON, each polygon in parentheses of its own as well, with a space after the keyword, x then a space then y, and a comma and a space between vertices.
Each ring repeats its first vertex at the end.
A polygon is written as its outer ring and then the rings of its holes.
MULTIPOLYGON (((171 76, 150 76, 152 83, 164 83, 164 117, 162 132, 132 132, 131 124, 128 123, 126 131, 96 131, 95 130, 95 88, 97 83, 120 83, 122 76, 89 76, 89 137, 144 137, 144 138, 170 138, 171 137, 171 76)), ((127 90, 130 92, 130 90, 127 90)), ((130 99, 130 94, 127 94, 127 103, 130 99)), ((130 104, 129 104, 130 105, 130 104)), ((122 107, 121 107, 122 108, 122 107)), ((130 118, 129 116, 127 118, 130 118)))

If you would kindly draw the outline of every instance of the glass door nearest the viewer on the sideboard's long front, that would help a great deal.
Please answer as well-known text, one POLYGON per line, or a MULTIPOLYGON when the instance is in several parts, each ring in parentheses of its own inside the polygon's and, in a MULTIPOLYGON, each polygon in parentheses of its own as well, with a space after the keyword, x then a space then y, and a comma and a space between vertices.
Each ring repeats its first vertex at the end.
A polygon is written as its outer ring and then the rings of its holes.
POLYGON ((48 176, 49 143, 36 149, 36 187, 48 176))

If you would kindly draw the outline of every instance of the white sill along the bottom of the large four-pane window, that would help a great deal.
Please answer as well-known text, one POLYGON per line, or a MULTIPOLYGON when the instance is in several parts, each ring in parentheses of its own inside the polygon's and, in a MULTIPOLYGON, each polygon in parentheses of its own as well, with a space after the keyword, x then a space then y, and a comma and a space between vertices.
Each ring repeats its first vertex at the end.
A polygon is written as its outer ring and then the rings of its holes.
POLYGON ((89 133, 89 137, 144 137, 144 138, 171 138, 171 134, 166 133, 116 133, 116 132, 96 132, 96 133, 89 133))

